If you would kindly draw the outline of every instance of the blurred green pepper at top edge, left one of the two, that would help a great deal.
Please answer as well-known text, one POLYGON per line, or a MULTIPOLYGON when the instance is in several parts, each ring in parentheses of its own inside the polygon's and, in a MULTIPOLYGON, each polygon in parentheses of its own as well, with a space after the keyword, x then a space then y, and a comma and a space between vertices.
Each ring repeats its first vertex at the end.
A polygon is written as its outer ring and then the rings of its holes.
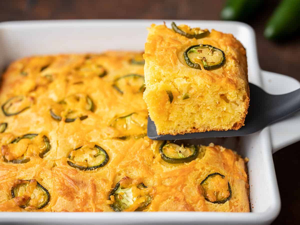
POLYGON ((244 21, 256 13, 263 0, 227 0, 221 11, 221 19, 244 21))

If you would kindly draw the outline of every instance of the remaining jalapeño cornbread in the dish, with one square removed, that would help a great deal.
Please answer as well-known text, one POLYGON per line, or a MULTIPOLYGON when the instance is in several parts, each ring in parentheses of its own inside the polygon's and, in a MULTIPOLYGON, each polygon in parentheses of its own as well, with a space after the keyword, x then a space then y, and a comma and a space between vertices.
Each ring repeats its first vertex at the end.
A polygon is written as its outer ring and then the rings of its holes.
POLYGON ((0 211, 249 211, 235 152, 146 136, 135 52, 13 62, 0 90, 0 211))

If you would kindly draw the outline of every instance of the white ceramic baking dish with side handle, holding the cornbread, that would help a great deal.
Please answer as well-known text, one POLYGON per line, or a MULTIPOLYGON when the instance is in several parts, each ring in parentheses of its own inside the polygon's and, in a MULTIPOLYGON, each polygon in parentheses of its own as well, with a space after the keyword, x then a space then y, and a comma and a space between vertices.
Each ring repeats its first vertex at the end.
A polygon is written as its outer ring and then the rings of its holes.
MULTIPOLYGON (((27 55, 63 52, 101 52, 107 49, 143 50, 151 23, 162 20, 65 20, 0 23, 0 69, 27 55)), ((170 27, 171 21, 166 21, 170 27)), ((282 94, 300 87, 293 78, 259 68, 253 29, 240 22, 176 21, 192 27, 232 33, 247 50, 250 82, 282 94)), ((251 102, 250 102, 251 104, 251 102)), ((1 212, 0 223, 17 224, 269 224, 280 211, 280 196, 272 152, 300 140, 300 115, 240 139, 238 152, 250 159, 250 213, 129 212, 42 213, 1 212)))

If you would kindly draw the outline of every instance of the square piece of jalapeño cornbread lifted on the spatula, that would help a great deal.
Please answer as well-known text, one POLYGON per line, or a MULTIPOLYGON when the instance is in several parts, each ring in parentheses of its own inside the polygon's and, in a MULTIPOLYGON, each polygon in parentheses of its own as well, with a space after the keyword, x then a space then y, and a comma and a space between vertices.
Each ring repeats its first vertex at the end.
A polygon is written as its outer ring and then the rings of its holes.
POLYGON ((249 106, 244 47, 231 34, 152 25, 144 100, 157 133, 238 130, 249 106))

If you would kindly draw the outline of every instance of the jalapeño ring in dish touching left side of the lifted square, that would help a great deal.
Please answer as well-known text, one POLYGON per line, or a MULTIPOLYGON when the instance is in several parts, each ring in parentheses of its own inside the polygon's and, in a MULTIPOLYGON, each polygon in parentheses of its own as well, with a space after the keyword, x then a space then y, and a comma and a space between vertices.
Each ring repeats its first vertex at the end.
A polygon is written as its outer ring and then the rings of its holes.
POLYGON ((128 74, 115 79, 113 88, 121 94, 131 91, 133 93, 143 92, 145 90, 145 78, 139 74, 128 74))

